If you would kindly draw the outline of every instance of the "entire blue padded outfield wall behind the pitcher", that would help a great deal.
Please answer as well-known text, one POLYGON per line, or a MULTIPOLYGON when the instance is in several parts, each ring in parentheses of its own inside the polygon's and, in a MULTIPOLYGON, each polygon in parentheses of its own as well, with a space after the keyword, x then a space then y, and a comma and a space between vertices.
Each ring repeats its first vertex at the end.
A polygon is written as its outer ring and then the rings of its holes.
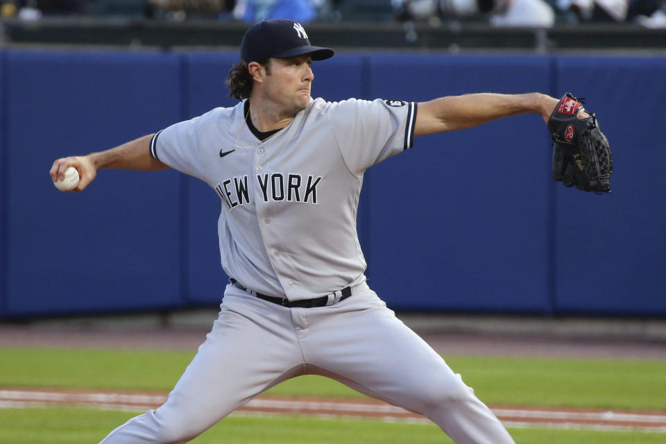
MULTIPOLYGON (((57 157, 234 105, 224 80, 236 59, 0 51, 0 317, 220 302, 220 201, 207 184, 105 170, 65 194, 47 172, 57 157)), ((332 101, 570 90, 588 97, 613 146, 609 196, 552 182, 536 115, 419 137, 368 170, 359 236, 370 286, 390 307, 666 314, 666 205, 656 196, 666 185, 666 58, 348 53, 314 72, 313 95, 332 101)))

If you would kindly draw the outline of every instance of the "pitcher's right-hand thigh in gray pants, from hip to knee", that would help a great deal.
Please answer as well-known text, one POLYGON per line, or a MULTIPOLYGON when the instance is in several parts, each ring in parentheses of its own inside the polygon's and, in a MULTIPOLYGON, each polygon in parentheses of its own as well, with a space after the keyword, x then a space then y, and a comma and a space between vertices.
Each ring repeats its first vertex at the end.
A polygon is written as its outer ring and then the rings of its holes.
POLYGON ((382 305, 311 324, 304 343, 311 364, 412 410, 470 393, 444 359, 382 305))

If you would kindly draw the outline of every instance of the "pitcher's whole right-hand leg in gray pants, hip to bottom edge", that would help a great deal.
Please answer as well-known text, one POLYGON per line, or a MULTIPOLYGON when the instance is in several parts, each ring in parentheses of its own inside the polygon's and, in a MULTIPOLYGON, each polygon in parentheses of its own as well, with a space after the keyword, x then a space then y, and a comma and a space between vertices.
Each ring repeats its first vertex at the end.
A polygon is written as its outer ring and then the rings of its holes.
POLYGON ((357 310, 350 305, 338 318, 311 323, 311 364, 362 393, 427 416, 456 443, 513 443, 472 388, 420 336, 383 302, 368 298, 361 309, 363 302, 359 298, 357 310))

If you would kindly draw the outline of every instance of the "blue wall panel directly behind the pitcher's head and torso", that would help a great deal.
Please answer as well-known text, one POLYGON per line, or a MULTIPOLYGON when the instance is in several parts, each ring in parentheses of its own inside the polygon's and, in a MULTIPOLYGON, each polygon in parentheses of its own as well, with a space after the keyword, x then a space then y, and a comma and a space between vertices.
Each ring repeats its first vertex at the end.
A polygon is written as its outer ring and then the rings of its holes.
MULTIPOLYGON (((186 62, 187 118, 216 106, 234 106, 236 99, 227 97, 224 80, 237 53, 189 53, 186 62)), ((312 95, 330 101, 360 96, 363 89, 364 59, 358 56, 336 56, 312 64, 315 80, 312 95)), ((231 147, 228 149, 232 149, 231 147)), ((224 178, 221 178, 220 182, 224 178)), ((187 178, 188 212, 188 298, 194 304, 219 303, 228 277, 220 265, 217 220, 221 201, 205 182, 187 178)), ((367 207, 367 205, 366 205, 367 207)), ((361 205, 359 212, 364 211, 361 205)), ((368 219, 367 215, 359 219, 368 219)))

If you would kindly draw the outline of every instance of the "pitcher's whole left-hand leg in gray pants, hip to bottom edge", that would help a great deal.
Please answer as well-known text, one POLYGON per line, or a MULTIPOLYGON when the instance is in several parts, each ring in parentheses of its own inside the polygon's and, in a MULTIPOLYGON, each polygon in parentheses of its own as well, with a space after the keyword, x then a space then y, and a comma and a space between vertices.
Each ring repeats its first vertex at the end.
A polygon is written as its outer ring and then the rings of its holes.
POLYGON ((189 441, 302 365, 288 316, 253 321, 262 303, 225 298, 219 318, 167 402, 114 430, 103 443, 189 441))

